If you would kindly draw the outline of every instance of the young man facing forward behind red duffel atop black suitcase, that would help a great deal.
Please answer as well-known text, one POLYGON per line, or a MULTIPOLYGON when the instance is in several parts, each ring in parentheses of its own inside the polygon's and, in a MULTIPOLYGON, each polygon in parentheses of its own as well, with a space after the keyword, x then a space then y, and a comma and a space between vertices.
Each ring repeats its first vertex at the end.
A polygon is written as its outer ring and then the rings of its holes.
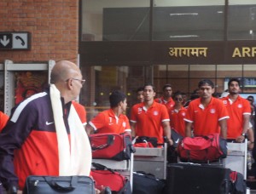
POLYGON ((228 111, 221 100, 212 97, 214 84, 205 79, 198 83, 200 98, 189 103, 186 122, 186 136, 220 133, 226 139, 228 111))

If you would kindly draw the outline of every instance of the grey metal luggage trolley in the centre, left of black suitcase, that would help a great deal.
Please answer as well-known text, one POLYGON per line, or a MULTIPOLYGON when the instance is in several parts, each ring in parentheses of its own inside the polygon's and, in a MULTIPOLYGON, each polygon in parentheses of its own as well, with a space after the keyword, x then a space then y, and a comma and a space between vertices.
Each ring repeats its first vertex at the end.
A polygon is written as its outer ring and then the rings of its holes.
POLYGON ((154 174, 156 178, 166 179, 167 144, 162 148, 136 147, 134 171, 154 174))

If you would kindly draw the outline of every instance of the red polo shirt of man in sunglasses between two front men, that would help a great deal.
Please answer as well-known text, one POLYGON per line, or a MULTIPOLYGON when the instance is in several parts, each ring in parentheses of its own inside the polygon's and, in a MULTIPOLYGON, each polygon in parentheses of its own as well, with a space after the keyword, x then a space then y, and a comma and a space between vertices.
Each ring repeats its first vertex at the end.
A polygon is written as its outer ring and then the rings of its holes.
POLYGON ((171 128, 177 132, 177 134, 185 136, 185 122, 184 118, 186 117, 187 109, 182 107, 180 110, 176 110, 172 107, 170 111, 170 124, 171 128))

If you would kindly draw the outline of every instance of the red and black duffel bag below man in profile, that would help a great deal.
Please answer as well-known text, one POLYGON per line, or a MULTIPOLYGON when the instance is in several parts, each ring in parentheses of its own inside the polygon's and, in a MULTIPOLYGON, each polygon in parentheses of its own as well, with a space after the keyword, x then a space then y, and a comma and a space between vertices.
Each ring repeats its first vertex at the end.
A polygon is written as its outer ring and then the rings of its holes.
POLYGON ((131 144, 131 135, 124 134, 90 134, 90 146, 93 159, 128 160, 135 152, 131 144))

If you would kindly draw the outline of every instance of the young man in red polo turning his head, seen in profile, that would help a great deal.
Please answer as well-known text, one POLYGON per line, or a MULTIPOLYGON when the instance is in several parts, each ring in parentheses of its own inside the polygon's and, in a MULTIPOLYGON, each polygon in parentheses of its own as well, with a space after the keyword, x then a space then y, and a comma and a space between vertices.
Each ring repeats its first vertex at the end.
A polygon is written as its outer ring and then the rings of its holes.
POLYGON ((109 96, 110 109, 96 115, 85 127, 87 134, 97 133, 131 133, 129 119, 123 114, 126 110, 126 95, 113 91, 109 96))

